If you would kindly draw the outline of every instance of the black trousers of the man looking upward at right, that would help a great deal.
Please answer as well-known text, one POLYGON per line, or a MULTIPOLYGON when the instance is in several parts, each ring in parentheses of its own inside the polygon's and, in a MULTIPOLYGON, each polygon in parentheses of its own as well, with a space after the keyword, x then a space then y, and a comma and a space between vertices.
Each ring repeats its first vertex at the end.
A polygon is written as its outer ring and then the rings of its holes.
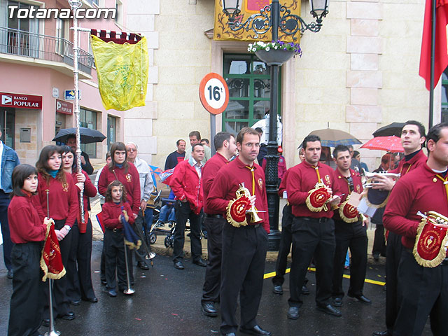
POLYGON ((386 327, 392 330, 400 309, 398 304, 398 265, 403 246, 401 236, 389 231, 386 246, 386 327))

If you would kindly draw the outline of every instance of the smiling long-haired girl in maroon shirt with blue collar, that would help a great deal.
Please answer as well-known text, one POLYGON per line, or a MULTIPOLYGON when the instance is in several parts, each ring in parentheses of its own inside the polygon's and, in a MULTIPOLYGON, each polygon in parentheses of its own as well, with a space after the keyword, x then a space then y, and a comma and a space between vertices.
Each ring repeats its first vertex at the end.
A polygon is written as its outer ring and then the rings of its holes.
MULTIPOLYGON (((37 207, 41 220, 48 216, 55 221, 57 239, 61 248, 62 263, 67 265, 71 249, 71 227, 78 216, 78 193, 71 174, 62 169, 62 148, 59 146, 45 146, 42 148, 36 163, 38 171, 37 195, 41 207, 37 207), (48 203, 47 203, 48 198, 48 203), (49 214, 47 215, 47 212, 49 214)), ((67 276, 53 282, 53 297, 55 304, 53 309, 55 316, 65 320, 73 320, 75 314, 70 309, 67 296, 69 269, 67 276)), ((48 286, 45 286, 48 294, 48 286)), ((50 323, 50 311, 48 299, 45 300, 43 311, 43 324, 50 323)))

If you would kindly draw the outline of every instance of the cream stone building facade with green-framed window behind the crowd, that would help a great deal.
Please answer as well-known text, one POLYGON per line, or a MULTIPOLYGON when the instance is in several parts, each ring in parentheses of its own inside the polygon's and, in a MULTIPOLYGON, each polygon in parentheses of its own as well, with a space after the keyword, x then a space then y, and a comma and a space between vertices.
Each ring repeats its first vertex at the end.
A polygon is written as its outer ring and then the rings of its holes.
MULTIPOLYGON (((301 6, 302 18, 311 22, 308 1, 301 6)), ((269 67, 247 52, 246 42, 213 40, 215 0, 129 0, 127 8, 128 27, 148 36, 151 83, 141 134, 151 134, 151 140, 137 134, 136 141, 151 147, 154 165, 163 167, 176 140, 188 141, 191 130, 210 137, 210 115, 198 94, 209 72, 223 75, 230 89, 217 131, 237 132, 262 118, 269 106, 269 67)), ((365 142, 394 121, 428 126, 429 94, 418 74, 424 1, 332 0, 328 10, 320 32, 302 35, 302 57, 281 67, 288 167, 299 161, 296 148, 313 130, 336 128, 365 142)), ((441 93, 439 83, 433 123, 442 118, 441 93)), ((125 125, 137 120, 126 116, 125 125)), ((361 157, 374 169, 384 153, 361 150, 361 157)))

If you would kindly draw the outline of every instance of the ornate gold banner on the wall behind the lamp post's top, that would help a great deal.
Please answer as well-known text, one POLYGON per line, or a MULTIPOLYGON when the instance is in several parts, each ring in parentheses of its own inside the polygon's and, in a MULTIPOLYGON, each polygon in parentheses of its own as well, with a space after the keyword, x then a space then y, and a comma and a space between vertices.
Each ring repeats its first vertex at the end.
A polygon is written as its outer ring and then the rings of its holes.
MULTIPOLYGON (((241 0, 241 13, 235 18, 235 22, 244 23, 248 18, 253 15, 260 13, 265 6, 271 3, 270 0, 241 0)), ((287 10, 290 10, 291 15, 300 16, 300 0, 279 0, 281 6, 285 6, 287 10)), ((270 18, 271 13, 265 12, 267 15, 265 18, 270 18)), ((280 17, 286 15, 286 13, 280 13, 280 17)), ((255 25, 259 27, 260 25, 265 25, 265 18, 258 16, 256 22, 252 20, 248 22, 249 27, 255 25)), ((288 18, 285 18, 288 20, 288 18)), ((286 21, 285 20, 285 21, 286 21)), ((215 0, 215 25, 214 25, 214 40, 238 40, 238 41, 272 41, 271 29, 267 29, 264 34, 255 34, 252 29, 239 29, 238 31, 233 31, 230 29, 229 17, 223 12, 223 0, 215 0)), ((293 21, 288 22, 292 24, 293 21)), ((281 24, 281 20, 279 25, 281 24)), ((294 42, 299 43, 300 32, 297 32, 295 36, 288 36, 279 29, 279 39, 283 42, 294 42), (295 40, 294 40, 295 38, 295 40)))

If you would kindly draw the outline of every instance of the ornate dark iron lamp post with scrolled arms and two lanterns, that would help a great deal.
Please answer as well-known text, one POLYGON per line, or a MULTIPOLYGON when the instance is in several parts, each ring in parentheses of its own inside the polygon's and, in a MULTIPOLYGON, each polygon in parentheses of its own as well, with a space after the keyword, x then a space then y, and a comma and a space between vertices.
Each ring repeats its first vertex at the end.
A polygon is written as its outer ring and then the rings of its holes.
MULTIPOLYGON (((298 15, 293 15, 285 6, 280 6, 279 0, 272 0, 272 3, 260 10, 260 13, 251 15, 246 21, 241 21, 241 2, 242 0, 222 0, 223 12, 229 16, 228 25, 233 31, 244 29, 253 31, 255 37, 265 34, 272 29, 272 41, 279 38, 279 29, 282 34, 291 36, 295 41, 297 31, 303 33, 306 30, 318 32, 322 27, 322 18, 328 14, 329 0, 309 0, 311 14, 316 18, 316 22, 309 25, 304 22, 298 15), (270 13, 270 15, 269 15, 270 13)), ((261 50, 260 50, 261 51, 261 50)), ((279 66, 293 56, 286 59, 267 59, 262 53, 255 52, 262 61, 271 66, 271 101, 269 112, 269 141, 267 143, 267 165, 266 165, 266 191, 267 191, 267 207, 269 209, 269 226, 271 233, 269 234, 269 251, 278 251, 280 244, 279 232, 279 179, 277 165, 279 158, 277 156, 277 108, 278 108, 278 91, 279 91, 279 66)), ((270 58, 270 57, 269 57, 270 58)))

